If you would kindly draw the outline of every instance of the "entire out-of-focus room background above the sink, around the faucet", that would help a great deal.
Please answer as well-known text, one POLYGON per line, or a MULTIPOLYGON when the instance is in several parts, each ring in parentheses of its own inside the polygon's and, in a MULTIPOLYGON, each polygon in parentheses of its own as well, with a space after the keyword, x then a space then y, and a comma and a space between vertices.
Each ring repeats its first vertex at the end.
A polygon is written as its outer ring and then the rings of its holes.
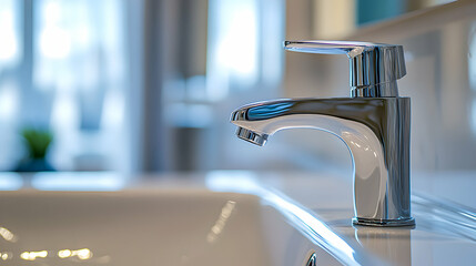
POLYGON ((250 102, 350 95, 346 58, 285 53, 293 39, 403 44, 413 168, 474 170, 476 8, 448 2, 0 0, 0 170, 352 173, 332 135, 257 147, 229 123, 250 102))

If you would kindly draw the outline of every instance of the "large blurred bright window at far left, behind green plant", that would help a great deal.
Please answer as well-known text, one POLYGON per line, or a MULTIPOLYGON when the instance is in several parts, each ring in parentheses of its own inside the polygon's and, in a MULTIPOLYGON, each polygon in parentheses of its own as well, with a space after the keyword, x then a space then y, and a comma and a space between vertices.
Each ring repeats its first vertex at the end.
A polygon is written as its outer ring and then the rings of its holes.
POLYGON ((21 158, 26 126, 53 132, 58 170, 128 170, 123 6, 0 0, 2 170, 21 158))

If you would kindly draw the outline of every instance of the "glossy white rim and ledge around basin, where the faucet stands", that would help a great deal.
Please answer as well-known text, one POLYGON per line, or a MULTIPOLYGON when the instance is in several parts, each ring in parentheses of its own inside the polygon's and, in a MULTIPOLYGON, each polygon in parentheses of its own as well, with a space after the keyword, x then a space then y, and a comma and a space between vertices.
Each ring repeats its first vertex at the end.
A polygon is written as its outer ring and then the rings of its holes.
POLYGON ((476 260, 476 223, 470 173, 450 176, 419 174, 413 178, 414 228, 352 226, 351 176, 313 173, 215 171, 119 177, 113 173, 41 173, 0 175, 0 188, 47 191, 163 191, 173 188, 249 193, 260 185, 308 209, 348 246, 394 265, 465 265, 476 260), (444 196, 440 196, 444 194, 444 196), (436 201, 433 201, 435 200, 436 201), (450 198, 452 201, 447 201, 450 198), (458 203, 458 204, 455 204, 458 203), (463 212, 462 212, 463 211, 463 212), (465 213, 466 212, 466 213, 465 213))

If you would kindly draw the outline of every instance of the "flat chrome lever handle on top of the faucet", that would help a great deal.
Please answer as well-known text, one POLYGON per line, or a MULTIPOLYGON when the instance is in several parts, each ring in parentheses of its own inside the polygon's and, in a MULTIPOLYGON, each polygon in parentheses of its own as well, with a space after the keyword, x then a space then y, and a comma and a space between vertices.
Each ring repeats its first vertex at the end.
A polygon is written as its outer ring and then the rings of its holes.
POLYGON ((356 41, 285 41, 288 51, 347 54, 352 96, 398 96, 396 80, 406 74, 402 45, 356 41))

